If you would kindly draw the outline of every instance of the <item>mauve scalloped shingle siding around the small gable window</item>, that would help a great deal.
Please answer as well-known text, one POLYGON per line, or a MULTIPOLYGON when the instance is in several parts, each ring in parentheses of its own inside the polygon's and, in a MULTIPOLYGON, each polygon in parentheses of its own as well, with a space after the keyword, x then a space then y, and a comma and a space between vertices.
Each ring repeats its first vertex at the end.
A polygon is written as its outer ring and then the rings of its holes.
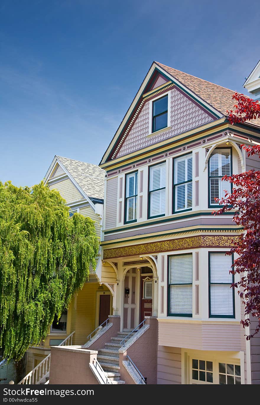
POLYGON ((173 89, 171 90, 171 129, 147 137, 149 135, 149 101, 147 101, 119 149, 117 157, 164 141, 211 121, 213 118, 197 104, 178 90, 173 89))

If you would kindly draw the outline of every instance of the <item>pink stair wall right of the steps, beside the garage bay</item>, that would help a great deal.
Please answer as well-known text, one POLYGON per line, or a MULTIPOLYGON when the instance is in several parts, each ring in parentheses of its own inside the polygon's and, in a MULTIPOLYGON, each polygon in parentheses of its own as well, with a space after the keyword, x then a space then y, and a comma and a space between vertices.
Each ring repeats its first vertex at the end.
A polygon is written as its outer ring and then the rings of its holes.
POLYGON ((157 384, 158 321, 156 318, 146 318, 146 325, 150 325, 150 328, 119 355, 120 374, 122 373, 120 378, 127 384, 134 384, 122 364, 123 360, 128 360, 127 355, 133 360, 142 375, 147 378, 147 384, 157 384))

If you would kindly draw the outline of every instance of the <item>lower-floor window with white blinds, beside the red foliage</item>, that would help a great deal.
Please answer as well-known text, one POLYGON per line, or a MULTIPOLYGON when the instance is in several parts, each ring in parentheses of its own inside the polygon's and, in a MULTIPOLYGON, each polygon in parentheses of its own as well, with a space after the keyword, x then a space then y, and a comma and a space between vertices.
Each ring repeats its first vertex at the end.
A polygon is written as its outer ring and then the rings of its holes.
POLYGON ((235 318, 232 256, 209 252, 209 317, 235 318))

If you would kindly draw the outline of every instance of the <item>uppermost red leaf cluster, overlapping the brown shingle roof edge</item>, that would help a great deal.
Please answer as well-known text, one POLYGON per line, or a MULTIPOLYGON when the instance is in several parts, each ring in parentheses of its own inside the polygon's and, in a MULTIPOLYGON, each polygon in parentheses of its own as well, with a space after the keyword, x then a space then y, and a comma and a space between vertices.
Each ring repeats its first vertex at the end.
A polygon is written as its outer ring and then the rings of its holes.
POLYGON ((227 111, 228 120, 231 124, 236 122, 245 122, 250 119, 260 118, 260 102, 252 98, 244 96, 244 94, 235 93, 232 97, 233 100, 238 101, 234 106, 235 111, 227 111))

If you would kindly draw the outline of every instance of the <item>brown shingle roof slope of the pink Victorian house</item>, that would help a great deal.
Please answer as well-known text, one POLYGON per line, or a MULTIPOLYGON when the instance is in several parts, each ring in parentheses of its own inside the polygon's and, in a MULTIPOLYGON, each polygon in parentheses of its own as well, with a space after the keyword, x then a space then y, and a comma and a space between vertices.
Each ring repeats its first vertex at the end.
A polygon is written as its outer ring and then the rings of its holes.
MULTIPOLYGON (((199 77, 188 75, 188 73, 170 68, 159 62, 155 63, 163 68, 165 72, 168 72, 171 76, 175 77, 175 79, 185 87, 188 87, 192 92, 197 94, 197 96, 205 100, 214 109, 218 110, 222 115, 227 116, 227 110, 234 111, 235 100, 232 100, 232 96, 235 91, 226 89, 226 87, 219 86, 210 81, 199 79, 199 77)), ((251 119, 248 121, 248 124, 260 126, 260 119, 251 119)))

